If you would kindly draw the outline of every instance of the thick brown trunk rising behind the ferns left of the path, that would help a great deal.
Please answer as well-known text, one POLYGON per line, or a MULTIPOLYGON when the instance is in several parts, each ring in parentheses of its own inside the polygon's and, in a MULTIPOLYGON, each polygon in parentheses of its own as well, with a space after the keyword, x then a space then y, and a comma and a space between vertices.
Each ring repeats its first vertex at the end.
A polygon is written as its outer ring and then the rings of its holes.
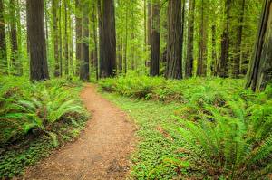
POLYGON ((44 34, 44 1, 26 0, 27 34, 30 45, 30 80, 49 79, 44 34))

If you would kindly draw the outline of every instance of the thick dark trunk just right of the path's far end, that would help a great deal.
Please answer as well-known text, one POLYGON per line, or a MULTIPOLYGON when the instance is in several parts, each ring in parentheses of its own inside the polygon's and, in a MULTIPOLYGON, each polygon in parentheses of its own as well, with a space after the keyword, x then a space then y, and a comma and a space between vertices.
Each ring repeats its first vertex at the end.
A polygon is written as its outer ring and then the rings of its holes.
POLYGON ((116 30, 114 0, 102 1, 102 53, 100 76, 114 76, 116 73, 116 30))

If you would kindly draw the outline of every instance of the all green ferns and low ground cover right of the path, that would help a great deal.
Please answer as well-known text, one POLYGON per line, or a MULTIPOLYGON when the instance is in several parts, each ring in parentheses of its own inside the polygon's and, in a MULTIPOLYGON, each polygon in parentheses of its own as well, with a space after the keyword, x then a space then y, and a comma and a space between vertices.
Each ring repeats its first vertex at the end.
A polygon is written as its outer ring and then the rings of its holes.
POLYGON ((272 171, 271 86, 253 93, 242 80, 133 75, 100 86, 122 95, 109 97, 139 124, 135 179, 266 179, 272 171))

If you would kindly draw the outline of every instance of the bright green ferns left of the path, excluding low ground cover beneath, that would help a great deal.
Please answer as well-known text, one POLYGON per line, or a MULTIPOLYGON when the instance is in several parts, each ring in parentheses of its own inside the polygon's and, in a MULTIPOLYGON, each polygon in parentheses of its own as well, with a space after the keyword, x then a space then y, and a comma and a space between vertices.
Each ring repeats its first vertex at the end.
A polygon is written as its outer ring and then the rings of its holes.
POLYGON ((31 84, 24 78, 2 78, 0 82, 0 144, 15 141, 32 129, 53 137, 50 128, 60 119, 86 116, 73 83, 53 80, 31 84))

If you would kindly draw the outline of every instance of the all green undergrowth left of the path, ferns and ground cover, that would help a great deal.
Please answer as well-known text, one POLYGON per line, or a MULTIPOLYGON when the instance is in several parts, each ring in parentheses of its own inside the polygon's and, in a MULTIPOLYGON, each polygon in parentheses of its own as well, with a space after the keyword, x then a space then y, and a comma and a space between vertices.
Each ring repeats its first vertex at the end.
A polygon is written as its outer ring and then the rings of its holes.
POLYGON ((25 78, 0 80, 0 178, 22 175, 53 148, 73 141, 84 128, 79 81, 25 78))

